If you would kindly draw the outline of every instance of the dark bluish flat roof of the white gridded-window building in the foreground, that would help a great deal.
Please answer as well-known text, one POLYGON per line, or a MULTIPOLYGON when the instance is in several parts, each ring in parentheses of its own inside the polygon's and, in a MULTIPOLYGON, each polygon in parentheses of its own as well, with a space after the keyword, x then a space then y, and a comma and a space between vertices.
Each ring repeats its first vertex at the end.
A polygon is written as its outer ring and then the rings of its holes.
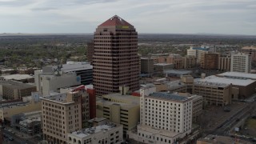
POLYGON ((165 92, 154 92, 149 96, 147 96, 146 98, 154 98, 159 100, 175 101, 175 102, 185 102, 186 100, 190 99, 184 96, 180 96, 178 94, 170 94, 165 92))

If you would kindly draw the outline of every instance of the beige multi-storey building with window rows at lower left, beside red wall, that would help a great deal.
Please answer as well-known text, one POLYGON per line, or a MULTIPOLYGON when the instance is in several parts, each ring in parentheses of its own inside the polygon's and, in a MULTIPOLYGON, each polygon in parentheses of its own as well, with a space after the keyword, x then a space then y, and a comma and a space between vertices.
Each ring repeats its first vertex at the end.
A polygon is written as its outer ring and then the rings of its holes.
POLYGON ((67 143, 67 134, 89 120, 88 94, 83 90, 42 98, 42 131, 47 142, 67 143))

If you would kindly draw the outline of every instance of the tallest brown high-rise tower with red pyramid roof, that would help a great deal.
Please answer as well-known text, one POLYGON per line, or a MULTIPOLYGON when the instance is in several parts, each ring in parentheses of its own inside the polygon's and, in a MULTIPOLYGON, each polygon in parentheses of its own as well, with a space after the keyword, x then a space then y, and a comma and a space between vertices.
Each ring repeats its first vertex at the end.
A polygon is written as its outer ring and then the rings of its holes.
POLYGON ((93 84, 97 95, 139 89, 138 33, 117 15, 94 32, 93 84))

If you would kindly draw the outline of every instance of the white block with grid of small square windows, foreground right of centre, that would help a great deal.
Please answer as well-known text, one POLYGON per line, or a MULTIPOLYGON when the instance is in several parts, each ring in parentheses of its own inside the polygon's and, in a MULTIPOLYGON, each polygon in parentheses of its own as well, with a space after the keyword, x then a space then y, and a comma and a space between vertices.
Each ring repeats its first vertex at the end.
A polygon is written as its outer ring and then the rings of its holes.
POLYGON ((178 94, 141 90, 141 118, 138 141, 173 143, 190 134, 192 128, 192 98, 178 94))

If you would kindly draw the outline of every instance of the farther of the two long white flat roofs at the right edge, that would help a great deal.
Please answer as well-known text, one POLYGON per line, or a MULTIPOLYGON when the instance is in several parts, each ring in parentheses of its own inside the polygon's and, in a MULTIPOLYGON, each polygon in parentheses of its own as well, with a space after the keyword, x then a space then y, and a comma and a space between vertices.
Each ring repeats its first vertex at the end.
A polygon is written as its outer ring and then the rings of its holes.
POLYGON ((240 72, 226 72, 222 74, 218 74, 217 76, 234 78, 234 79, 255 79, 256 74, 248 74, 248 73, 240 73, 240 72))

